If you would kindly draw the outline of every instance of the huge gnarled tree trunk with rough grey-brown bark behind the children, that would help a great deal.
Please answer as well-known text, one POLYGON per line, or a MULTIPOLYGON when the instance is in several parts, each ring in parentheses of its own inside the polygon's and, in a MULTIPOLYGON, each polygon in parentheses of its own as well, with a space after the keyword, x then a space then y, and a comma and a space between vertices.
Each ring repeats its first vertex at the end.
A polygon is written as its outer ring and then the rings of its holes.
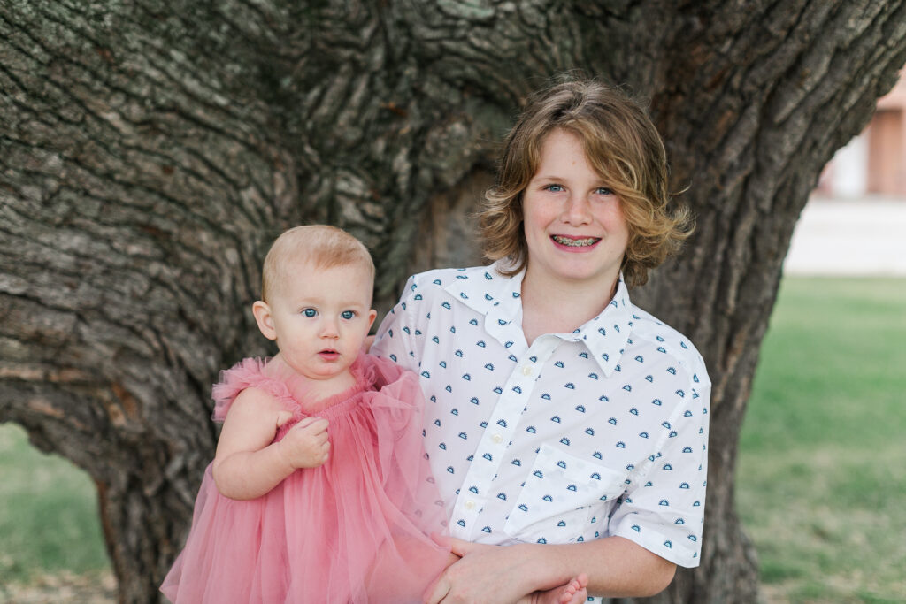
POLYGON ((714 380, 701 566, 657 600, 754 601, 734 471, 781 263, 904 62, 901 0, 0 0, 0 421, 92 475, 120 599, 157 600, 273 236, 360 236, 381 308, 477 262, 496 141, 581 69, 651 102, 698 215, 633 293, 714 380))

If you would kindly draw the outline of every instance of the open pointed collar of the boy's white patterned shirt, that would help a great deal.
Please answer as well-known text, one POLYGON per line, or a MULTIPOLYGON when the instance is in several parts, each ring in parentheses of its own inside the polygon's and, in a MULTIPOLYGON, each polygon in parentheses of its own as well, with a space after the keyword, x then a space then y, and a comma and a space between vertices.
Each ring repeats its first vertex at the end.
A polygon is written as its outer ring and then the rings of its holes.
MULTIPOLYGON (((485 316, 487 334, 507 349, 525 341, 522 333, 522 280, 525 269, 512 277, 497 272, 505 261, 478 269, 461 271, 444 289, 459 302, 485 316)), ((503 266, 506 266, 504 264, 503 266)), ((572 333, 556 334, 562 340, 582 341, 606 377, 619 370, 620 358, 630 339, 632 303, 622 274, 613 299, 598 316, 572 333)))

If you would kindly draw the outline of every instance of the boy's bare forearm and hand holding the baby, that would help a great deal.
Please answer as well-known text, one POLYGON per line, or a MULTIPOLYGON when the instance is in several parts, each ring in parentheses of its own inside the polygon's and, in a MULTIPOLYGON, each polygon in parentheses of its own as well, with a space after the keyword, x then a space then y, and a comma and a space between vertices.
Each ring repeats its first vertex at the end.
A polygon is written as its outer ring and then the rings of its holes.
POLYGON ((567 545, 482 545, 453 541, 462 559, 441 575, 427 601, 513 602, 588 575, 590 595, 651 596, 673 579, 676 564, 622 537, 567 545), (506 581, 501 582, 501 578, 506 581))

